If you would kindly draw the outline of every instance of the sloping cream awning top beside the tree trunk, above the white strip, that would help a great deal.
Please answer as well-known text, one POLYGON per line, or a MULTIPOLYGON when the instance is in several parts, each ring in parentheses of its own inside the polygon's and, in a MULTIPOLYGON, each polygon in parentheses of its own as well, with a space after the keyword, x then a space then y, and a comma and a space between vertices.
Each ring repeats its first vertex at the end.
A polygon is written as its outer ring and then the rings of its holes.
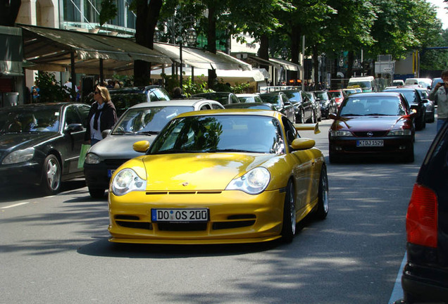
MULTIPOLYGON (((180 47, 173 44, 154 43, 154 50, 166 54, 173 61, 180 63, 180 47)), ((182 47, 182 63, 194 68, 206 70, 251 70, 249 63, 240 61, 221 51, 216 54, 202 49, 182 47)))

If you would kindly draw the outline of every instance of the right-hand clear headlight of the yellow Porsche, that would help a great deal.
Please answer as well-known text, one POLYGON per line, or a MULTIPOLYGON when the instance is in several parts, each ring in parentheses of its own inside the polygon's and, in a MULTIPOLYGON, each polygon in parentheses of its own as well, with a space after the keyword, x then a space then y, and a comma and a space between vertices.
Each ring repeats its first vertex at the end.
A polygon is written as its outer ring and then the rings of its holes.
POLYGON ((247 194, 260 194, 270 182, 270 173, 265 167, 256 167, 242 177, 232 179, 225 190, 241 190, 247 194))

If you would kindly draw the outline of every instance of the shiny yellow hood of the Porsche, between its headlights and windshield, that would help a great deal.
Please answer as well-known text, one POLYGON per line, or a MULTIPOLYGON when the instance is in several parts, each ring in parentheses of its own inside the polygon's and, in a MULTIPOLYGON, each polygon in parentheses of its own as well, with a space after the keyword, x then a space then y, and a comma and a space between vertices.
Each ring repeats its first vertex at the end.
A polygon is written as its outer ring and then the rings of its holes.
POLYGON ((235 177, 266 163, 274 154, 186 153, 142 158, 147 191, 222 191, 235 177))

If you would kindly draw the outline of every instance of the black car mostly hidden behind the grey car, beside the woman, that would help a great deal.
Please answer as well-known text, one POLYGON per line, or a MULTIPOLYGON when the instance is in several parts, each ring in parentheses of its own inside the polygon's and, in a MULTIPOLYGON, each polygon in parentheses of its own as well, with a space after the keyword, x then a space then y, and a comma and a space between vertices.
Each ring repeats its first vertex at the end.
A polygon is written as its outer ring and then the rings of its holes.
POLYGON ((135 106, 137 103, 170 100, 170 95, 166 89, 158 85, 110 89, 109 93, 111 94, 113 105, 117 110, 118 118, 125 110, 135 106))

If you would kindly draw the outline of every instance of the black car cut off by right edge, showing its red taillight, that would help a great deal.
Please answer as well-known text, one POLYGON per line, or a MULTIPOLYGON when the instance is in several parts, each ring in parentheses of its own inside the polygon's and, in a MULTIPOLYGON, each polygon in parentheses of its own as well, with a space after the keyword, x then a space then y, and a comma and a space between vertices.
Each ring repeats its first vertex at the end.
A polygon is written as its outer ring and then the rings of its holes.
POLYGON ((406 303, 448 300, 448 123, 435 137, 418 172, 406 215, 406 303))

